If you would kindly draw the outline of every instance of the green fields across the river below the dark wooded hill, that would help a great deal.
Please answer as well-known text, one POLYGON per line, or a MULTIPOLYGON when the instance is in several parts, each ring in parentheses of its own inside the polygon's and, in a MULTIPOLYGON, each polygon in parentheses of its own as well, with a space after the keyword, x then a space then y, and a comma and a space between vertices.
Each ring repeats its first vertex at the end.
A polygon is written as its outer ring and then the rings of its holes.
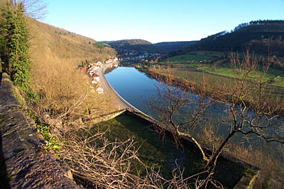
MULTIPOLYGON (((236 72, 231 69, 228 57, 229 55, 226 55, 224 52, 198 51, 163 59, 161 63, 166 64, 169 62, 174 67, 194 68, 198 71, 236 78, 236 72)), ((256 55, 256 58, 259 57, 259 55, 256 55)), ((244 58, 244 55, 240 55, 239 58, 244 58)), ((262 72, 263 67, 259 66, 258 71, 254 71, 249 77, 249 80, 256 81, 258 74, 262 72)), ((263 82, 284 87, 284 71, 270 67, 263 77, 263 82)))

